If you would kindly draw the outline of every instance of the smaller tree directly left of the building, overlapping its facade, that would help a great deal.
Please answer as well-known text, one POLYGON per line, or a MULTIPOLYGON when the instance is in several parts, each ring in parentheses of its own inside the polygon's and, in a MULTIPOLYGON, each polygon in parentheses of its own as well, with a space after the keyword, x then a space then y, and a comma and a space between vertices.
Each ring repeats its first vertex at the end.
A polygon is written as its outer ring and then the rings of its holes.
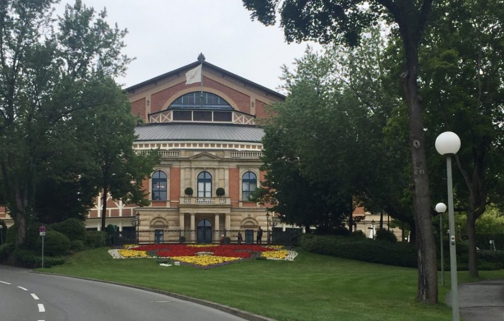
POLYGON ((159 153, 137 154, 133 149, 137 119, 131 113, 127 94, 113 79, 98 78, 91 87, 86 100, 100 104, 77 112, 70 123, 76 129, 80 149, 92 161, 90 180, 103 198, 101 230, 105 230, 109 195, 126 204, 149 204, 142 182, 159 163, 159 153))

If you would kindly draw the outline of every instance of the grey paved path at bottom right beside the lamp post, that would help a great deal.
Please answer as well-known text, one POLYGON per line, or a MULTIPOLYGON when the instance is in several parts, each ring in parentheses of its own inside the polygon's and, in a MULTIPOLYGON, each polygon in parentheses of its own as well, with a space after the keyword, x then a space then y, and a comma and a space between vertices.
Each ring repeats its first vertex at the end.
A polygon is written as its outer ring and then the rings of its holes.
MULTIPOLYGON (((452 305, 450 293, 446 302, 452 305)), ((504 321, 504 280, 459 284, 459 305, 465 321, 504 321)))

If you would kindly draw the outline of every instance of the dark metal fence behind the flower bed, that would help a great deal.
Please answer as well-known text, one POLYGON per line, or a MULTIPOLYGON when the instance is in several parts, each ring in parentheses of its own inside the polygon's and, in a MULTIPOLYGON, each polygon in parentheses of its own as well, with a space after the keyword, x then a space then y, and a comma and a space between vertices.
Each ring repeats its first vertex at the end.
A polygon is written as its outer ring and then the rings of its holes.
MULTIPOLYGON (((241 233, 241 244, 256 244, 257 230, 149 230, 149 231, 117 231, 111 240, 115 245, 124 244, 163 244, 163 243, 191 243, 212 244, 220 243, 224 235, 225 242, 238 244, 238 233, 241 233), (229 238, 228 238, 229 237, 229 238)), ((263 231, 260 244, 288 245, 296 244, 298 231, 263 231)))

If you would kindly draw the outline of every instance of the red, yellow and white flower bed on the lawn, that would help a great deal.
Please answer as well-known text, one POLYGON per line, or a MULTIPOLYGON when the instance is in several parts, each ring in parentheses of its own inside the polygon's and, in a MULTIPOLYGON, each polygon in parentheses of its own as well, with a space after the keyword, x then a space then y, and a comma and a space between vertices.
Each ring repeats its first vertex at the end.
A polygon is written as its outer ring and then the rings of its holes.
POLYGON ((114 259, 169 258, 185 264, 209 267, 261 256, 268 260, 294 261, 297 253, 283 246, 218 245, 218 244, 150 244, 127 245, 124 249, 109 250, 114 259))

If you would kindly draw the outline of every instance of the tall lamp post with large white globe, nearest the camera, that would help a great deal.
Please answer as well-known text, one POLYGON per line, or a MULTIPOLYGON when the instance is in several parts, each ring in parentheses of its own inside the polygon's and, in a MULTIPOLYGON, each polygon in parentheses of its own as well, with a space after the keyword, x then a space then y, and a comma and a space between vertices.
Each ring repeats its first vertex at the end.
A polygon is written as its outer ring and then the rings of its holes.
POLYGON ((456 133, 446 131, 436 138, 436 150, 446 155, 446 172, 448 185, 448 220, 450 226, 450 276, 452 280, 452 314, 453 320, 459 321, 459 290, 457 284, 457 255, 455 248, 455 222, 453 215, 453 186, 452 186, 452 154, 460 149, 460 138, 456 133))

